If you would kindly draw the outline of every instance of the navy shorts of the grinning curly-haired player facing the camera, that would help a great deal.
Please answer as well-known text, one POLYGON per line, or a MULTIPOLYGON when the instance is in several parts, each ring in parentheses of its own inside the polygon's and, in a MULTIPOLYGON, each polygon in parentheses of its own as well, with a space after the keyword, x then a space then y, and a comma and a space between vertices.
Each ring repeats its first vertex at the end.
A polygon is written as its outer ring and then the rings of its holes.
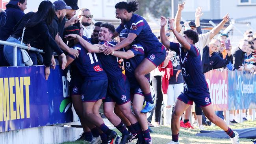
POLYGON ((130 83, 126 76, 108 83, 108 91, 103 102, 116 102, 117 105, 130 102, 130 83))

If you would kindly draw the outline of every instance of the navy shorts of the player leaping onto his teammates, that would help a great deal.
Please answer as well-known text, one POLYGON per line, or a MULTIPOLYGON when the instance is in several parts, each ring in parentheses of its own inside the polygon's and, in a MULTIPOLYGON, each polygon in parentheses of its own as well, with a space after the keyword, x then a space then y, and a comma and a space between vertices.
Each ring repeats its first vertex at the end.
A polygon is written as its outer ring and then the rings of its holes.
POLYGON ((161 48, 156 48, 154 50, 151 50, 147 56, 146 59, 148 59, 151 63, 153 63, 156 67, 159 66, 166 57, 166 50, 165 47, 162 45, 161 48))

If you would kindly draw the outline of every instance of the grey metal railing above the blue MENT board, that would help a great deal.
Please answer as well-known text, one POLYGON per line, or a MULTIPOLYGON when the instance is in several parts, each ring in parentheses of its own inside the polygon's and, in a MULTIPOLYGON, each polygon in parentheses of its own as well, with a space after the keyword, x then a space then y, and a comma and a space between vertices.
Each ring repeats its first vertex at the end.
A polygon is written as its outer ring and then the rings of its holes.
MULTIPOLYGON (((24 46, 15 42, 0 41, 0 45, 13 46, 13 66, 17 66, 17 47, 28 50, 28 46, 24 46)), ((43 50, 31 47, 31 51, 44 53, 43 50)))

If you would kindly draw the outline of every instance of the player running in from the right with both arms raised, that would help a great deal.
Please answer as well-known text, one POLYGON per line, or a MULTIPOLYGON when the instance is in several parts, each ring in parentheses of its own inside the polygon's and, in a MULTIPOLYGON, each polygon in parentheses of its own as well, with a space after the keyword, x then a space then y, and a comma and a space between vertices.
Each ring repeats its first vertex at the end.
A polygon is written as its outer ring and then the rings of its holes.
POLYGON ((169 19, 169 22, 171 31, 173 31, 180 44, 168 41, 165 35, 165 25, 167 23, 165 17, 161 17, 161 42, 179 55, 182 76, 185 81, 183 90, 178 96, 178 100, 176 100, 172 113, 171 129, 173 139, 169 144, 179 144, 180 116, 193 102, 202 107, 205 116, 211 122, 227 133, 231 138, 232 144, 239 144, 238 133, 232 131, 224 120, 219 118, 213 111, 208 85, 202 70, 200 51, 194 45, 198 42, 198 33, 193 30, 186 30, 182 36, 174 29, 174 19, 169 19))

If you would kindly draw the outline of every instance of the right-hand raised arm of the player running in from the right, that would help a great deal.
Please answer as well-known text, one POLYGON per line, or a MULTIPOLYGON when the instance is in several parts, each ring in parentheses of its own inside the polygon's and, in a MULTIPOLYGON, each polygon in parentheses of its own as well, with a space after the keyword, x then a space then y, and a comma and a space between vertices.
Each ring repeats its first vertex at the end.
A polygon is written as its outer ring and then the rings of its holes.
POLYGON ((186 50, 190 50, 191 45, 187 42, 187 40, 178 33, 178 31, 176 31, 173 27, 173 23, 174 20, 173 19, 169 19, 170 22, 170 28, 171 31, 173 31, 173 34, 175 35, 175 37, 177 38, 178 42, 180 42, 180 44, 186 49, 186 50))

